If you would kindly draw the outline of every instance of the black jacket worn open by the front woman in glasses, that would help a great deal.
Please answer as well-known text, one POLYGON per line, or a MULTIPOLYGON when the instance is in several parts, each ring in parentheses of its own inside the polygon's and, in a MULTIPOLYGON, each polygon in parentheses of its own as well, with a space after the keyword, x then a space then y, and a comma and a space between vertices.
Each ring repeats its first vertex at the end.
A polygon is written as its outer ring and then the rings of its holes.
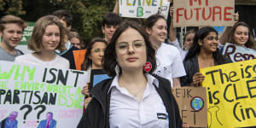
MULTIPOLYGON (((159 88, 155 89, 160 94, 169 115, 169 127, 181 128, 182 120, 179 115, 177 102, 174 96, 172 96, 171 84, 167 79, 154 76, 159 80, 159 88)), ((97 84, 91 91, 92 100, 90 101, 88 108, 86 108, 82 119, 79 122, 78 128, 108 128, 109 127, 109 102, 110 93, 108 90, 113 79, 107 79, 97 84)))

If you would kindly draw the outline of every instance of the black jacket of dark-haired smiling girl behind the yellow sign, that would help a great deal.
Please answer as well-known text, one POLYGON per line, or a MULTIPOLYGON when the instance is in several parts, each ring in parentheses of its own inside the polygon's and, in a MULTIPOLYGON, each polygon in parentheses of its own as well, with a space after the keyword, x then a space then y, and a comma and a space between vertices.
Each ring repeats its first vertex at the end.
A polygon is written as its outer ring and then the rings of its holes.
MULTIPOLYGON (((218 65, 230 62, 230 60, 224 57, 224 55, 221 57, 222 61, 218 61, 218 65)), ((180 84, 182 86, 190 86, 190 84, 193 82, 193 75, 199 72, 198 55, 193 56, 187 61, 183 61, 183 65, 186 71, 186 75, 180 78, 180 84)))

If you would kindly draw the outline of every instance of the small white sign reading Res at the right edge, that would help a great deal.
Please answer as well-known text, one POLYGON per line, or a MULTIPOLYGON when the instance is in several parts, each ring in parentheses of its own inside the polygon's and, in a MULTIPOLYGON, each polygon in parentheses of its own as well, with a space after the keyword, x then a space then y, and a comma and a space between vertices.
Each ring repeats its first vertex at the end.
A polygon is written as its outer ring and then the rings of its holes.
POLYGON ((223 49, 223 55, 230 61, 246 61, 256 59, 256 50, 244 48, 235 44, 226 43, 223 49))

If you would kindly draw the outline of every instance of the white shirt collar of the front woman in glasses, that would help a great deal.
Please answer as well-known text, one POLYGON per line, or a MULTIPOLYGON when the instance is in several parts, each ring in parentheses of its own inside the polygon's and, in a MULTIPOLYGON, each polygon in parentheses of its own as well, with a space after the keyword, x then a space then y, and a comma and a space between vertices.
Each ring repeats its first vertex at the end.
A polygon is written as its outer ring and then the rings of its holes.
MULTIPOLYGON (((155 85, 157 88, 159 88, 159 81, 158 81, 158 79, 154 78, 154 76, 152 76, 149 73, 146 73, 145 75, 146 75, 147 80, 148 80, 147 84, 152 84, 152 85, 155 85)), ((122 88, 119 86, 119 75, 116 75, 113 78, 113 81, 112 81, 112 83, 110 85, 110 88, 108 90, 108 94, 109 94, 110 90, 113 87, 116 87, 118 90, 122 90, 122 88)))

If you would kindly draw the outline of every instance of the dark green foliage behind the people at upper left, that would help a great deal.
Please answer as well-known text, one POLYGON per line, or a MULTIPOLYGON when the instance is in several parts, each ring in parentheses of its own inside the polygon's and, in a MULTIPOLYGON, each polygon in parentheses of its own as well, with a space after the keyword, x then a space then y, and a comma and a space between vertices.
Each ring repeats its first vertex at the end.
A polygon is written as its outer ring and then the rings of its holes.
POLYGON ((27 21, 50 15, 57 9, 67 9, 73 15, 73 30, 84 43, 102 37, 102 17, 113 10, 115 0, 0 0, 0 17, 18 15, 27 21))

